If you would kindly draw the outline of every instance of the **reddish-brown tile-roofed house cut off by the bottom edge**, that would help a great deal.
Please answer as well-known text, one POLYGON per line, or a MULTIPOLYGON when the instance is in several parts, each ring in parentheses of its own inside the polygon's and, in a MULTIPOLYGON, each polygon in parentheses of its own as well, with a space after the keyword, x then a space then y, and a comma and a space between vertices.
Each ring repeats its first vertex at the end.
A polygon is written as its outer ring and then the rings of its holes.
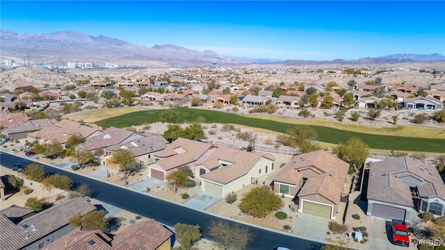
POLYGON ((47 250, 69 249, 139 249, 139 250, 170 250, 173 233, 149 219, 144 222, 131 224, 111 239, 100 230, 88 228, 74 229, 47 246, 47 250))

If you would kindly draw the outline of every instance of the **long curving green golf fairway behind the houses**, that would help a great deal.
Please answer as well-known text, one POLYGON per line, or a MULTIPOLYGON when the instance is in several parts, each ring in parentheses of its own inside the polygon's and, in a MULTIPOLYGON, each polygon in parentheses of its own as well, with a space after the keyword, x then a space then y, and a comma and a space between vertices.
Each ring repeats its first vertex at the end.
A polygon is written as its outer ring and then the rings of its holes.
MULTIPOLYGON (((318 140, 321 142, 338 144, 339 142, 346 142, 348 138, 357 137, 366 142, 371 149, 445 153, 444 139, 409 138, 357 133, 337 128, 328 128, 325 126, 295 125, 284 122, 275 122, 269 119, 243 117, 241 115, 213 110, 197 110, 191 108, 177 108, 171 110, 175 110, 179 114, 180 123, 193 122, 199 118, 208 123, 240 124, 254 128, 264 128, 269 131, 277 131, 280 133, 286 133, 286 130, 291 126, 309 126, 315 129, 318 134, 318 140)), ((121 128, 133 125, 151 124, 159 122, 159 114, 164 111, 165 110, 144 110, 103 119, 96 123, 100 126, 116 126, 121 128)))

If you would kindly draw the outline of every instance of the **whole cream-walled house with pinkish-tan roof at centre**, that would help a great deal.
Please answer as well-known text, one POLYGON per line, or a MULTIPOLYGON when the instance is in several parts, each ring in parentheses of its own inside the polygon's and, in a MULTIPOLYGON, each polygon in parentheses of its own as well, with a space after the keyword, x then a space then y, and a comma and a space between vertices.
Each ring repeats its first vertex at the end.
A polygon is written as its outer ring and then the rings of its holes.
POLYGON ((261 176, 275 171, 275 158, 269 154, 251 153, 219 146, 202 163, 195 165, 201 190, 216 197, 236 192, 249 184, 260 184, 261 176))

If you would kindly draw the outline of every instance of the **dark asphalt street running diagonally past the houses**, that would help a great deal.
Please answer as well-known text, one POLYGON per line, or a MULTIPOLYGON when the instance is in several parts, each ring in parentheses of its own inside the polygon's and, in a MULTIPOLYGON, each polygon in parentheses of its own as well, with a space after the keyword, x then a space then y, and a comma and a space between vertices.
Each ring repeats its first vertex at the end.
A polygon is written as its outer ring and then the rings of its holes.
MULTIPOLYGON (((9 153, 0 153, 0 164, 4 167, 10 167, 14 163, 22 163, 25 166, 33 163, 31 160, 13 156, 9 153)), ((39 163, 40 165, 43 165, 39 163)), ((155 219, 162 224, 168 226, 174 226, 177 222, 184 224, 200 225, 204 238, 211 239, 207 233, 207 227, 213 220, 221 219, 207 213, 202 213, 197 210, 186 208, 184 206, 177 205, 176 203, 170 203, 154 197, 149 197, 146 194, 133 192, 126 188, 120 188, 116 185, 97 181, 92 178, 74 174, 72 172, 52 167, 51 165, 43 165, 47 174, 64 174, 69 176, 74 185, 79 183, 86 183, 92 190, 91 197, 109 203, 113 206, 118 206, 124 210, 129 210, 132 213, 142 215, 144 217, 155 219)), ((230 223, 237 223, 228 221, 230 223)), ((310 240, 304 240, 293 237, 291 235, 285 235, 282 233, 275 233, 274 231, 268 231, 263 228, 257 228, 254 226, 248 226, 241 224, 249 228, 252 234, 252 241, 246 247, 246 249, 275 249, 277 247, 287 247, 289 249, 320 249, 321 244, 310 240)), ((325 232, 313 232, 313 233, 325 233, 325 232)))

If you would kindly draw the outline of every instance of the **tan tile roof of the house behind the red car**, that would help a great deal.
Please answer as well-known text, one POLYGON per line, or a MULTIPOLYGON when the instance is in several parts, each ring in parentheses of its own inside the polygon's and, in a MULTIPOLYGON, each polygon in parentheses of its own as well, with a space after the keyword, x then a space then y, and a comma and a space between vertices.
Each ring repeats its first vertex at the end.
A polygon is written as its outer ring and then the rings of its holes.
POLYGON ((408 156, 371 163, 368 199, 412 207, 410 185, 403 183, 406 176, 421 183, 417 185, 420 197, 445 200, 445 184, 437 169, 408 156))

